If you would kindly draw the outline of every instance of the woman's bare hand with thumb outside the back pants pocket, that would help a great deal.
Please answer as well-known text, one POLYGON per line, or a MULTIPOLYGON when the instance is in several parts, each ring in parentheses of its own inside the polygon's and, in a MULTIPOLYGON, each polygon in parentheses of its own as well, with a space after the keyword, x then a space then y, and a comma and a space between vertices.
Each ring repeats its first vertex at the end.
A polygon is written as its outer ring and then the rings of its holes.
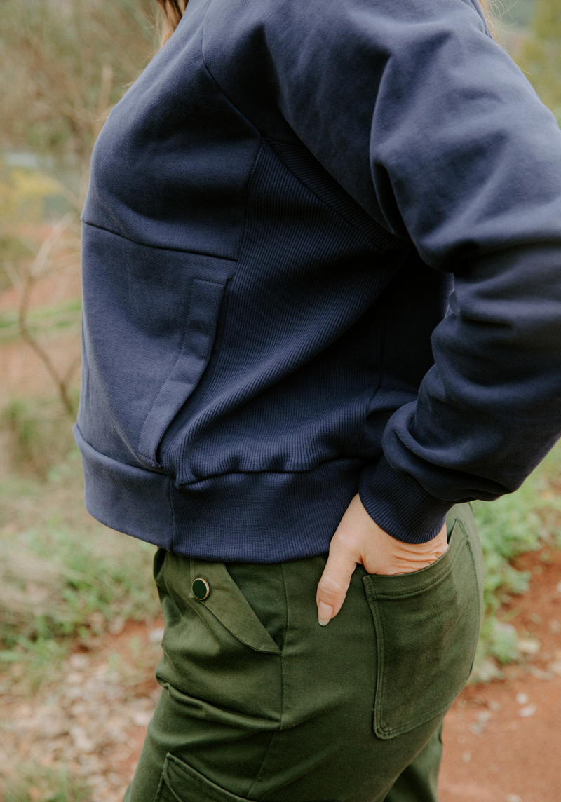
POLYGON ((357 494, 331 539, 316 595, 319 623, 325 626, 339 613, 357 563, 368 573, 413 573, 436 561, 446 549, 445 526, 432 541, 403 543, 380 529, 357 494))

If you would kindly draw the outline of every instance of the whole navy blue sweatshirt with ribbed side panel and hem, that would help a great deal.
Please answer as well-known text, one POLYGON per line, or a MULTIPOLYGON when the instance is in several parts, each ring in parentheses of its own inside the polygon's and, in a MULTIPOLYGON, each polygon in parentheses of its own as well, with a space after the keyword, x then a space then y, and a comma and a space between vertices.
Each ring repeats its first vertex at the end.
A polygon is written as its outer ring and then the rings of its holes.
POLYGON ((83 212, 86 503, 209 560, 393 537, 561 432, 561 133, 476 0, 190 0, 83 212))

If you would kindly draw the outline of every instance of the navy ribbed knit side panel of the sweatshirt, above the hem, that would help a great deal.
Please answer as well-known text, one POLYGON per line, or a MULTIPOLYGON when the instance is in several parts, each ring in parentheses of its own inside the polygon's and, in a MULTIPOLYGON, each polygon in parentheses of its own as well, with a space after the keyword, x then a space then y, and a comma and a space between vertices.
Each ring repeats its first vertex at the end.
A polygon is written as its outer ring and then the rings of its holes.
POLYGON ((177 484, 356 458, 380 379, 375 301, 404 253, 379 253, 263 144, 223 334, 162 444, 177 484))

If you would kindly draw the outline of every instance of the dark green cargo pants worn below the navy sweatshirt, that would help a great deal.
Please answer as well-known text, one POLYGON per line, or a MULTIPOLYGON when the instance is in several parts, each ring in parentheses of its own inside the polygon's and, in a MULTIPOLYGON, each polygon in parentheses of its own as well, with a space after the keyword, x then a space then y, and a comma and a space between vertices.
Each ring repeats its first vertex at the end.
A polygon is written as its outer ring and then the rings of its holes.
POLYGON ((357 566, 325 627, 325 556, 226 566, 159 551, 163 691, 125 802, 435 802, 441 722, 482 611, 469 505, 448 524, 428 568, 357 566))

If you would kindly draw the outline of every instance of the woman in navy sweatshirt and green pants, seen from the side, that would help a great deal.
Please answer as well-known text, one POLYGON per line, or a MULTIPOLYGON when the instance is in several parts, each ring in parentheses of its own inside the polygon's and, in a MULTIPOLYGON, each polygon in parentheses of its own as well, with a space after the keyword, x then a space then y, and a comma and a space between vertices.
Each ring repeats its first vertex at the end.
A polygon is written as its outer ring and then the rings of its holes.
POLYGON ((126 799, 436 800, 465 502, 561 431, 561 134, 477 0, 161 4, 83 213, 87 508, 161 547, 126 799))

